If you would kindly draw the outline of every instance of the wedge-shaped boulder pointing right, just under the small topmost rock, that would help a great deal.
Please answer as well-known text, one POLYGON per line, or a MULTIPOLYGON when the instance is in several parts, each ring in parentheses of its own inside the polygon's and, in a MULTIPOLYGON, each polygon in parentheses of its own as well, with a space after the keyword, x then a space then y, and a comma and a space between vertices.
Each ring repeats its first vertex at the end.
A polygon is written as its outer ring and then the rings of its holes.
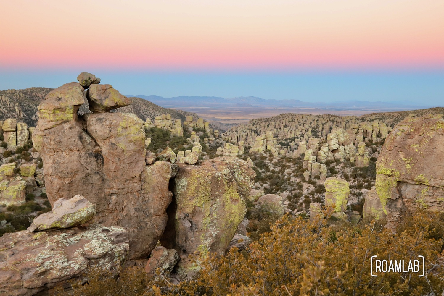
POLYGON ((89 108, 92 112, 109 112, 132 103, 126 96, 121 95, 110 84, 92 84, 87 90, 89 108))

